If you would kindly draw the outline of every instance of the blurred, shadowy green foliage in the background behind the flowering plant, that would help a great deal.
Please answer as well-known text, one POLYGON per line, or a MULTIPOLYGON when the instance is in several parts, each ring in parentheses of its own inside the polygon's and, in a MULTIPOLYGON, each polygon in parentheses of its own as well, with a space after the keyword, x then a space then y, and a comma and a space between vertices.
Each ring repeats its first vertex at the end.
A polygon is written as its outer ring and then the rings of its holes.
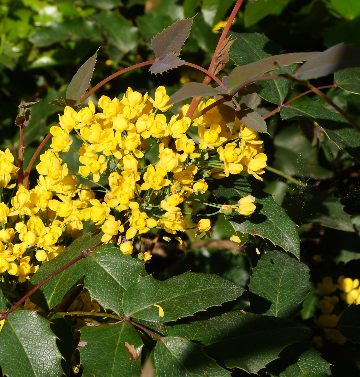
MULTIPOLYGON (((57 114, 62 112, 61 107, 49 102, 65 94, 77 69, 99 47, 92 86, 119 69, 153 59, 152 37, 178 19, 194 17, 182 58, 208 67, 219 38, 216 25, 226 20, 234 3, 233 0, 1 0, 1 148, 8 147, 17 155, 19 130, 14 122, 18 104, 42 99, 32 108, 31 122, 24 133, 24 166, 28 165, 44 135, 57 123, 57 114)), ((359 0, 247 1, 231 27, 237 33, 264 33, 286 52, 323 51, 340 42, 359 47, 359 29, 359 0)), ((224 73, 228 72, 225 67, 224 73)), ((152 95, 156 87, 164 85, 172 94, 182 84, 201 82, 203 78, 204 74, 185 66, 158 76, 150 75, 147 68, 137 69, 110 81, 89 99, 96 102, 103 94, 117 97, 128 86, 152 95)), ((333 76, 315 81, 316 86, 332 83, 333 76)), ((290 86, 286 100, 301 92, 299 86, 290 86)), ((360 121, 359 95, 340 88, 325 93, 360 121)), ((293 104, 314 99, 309 94, 293 104)), ((276 107, 257 95, 252 106, 262 115, 276 107)), ((311 268, 311 281, 316 286, 324 276, 332 276, 334 281, 341 274, 360 278, 358 161, 340 151, 311 121, 288 123, 276 114, 267 123, 270 135, 262 136, 269 166, 299 179, 303 185, 267 172, 262 188, 274 195, 299 225, 302 262, 311 268)), ((64 162, 76 171, 77 159, 70 160, 64 162)), ((204 213, 201 206, 195 206, 194 211, 204 213)), ((214 219, 214 239, 229 235, 224 220, 214 219)), ((191 231, 187 236, 190 242, 195 241, 191 231)), ((253 237, 237 250, 216 243, 193 244, 193 251, 186 256, 174 247, 158 248, 150 268, 159 279, 193 270, 219 273, 245 286, 251 273, 248 256, 256 255, 256 247, 262 252, 274 248, 253 237)), ((312 297, 315 297, 311 304, 314 315, 320 296, 312 297)), ((299 316, 301 319, 309 321, 306 316, 299 316)), ((320 331, 318 335, 322 335, 320 331)), ((324 340, 319 347, 323 356, 334 364, 334 376, 360 375, 360 354, 353 343, 338 345, 324 340)))

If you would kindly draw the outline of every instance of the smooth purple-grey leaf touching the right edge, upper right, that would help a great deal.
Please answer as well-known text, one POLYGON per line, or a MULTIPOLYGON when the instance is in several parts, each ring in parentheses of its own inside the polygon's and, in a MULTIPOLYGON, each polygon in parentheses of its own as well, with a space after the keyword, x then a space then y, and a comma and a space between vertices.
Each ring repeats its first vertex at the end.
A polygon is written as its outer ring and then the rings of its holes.
POLYGON ((360 48, 352 48, 346 44, 336 44, 304 63, 295 76, 308 80, 326 76, 339 69, 360 65, 360 48))

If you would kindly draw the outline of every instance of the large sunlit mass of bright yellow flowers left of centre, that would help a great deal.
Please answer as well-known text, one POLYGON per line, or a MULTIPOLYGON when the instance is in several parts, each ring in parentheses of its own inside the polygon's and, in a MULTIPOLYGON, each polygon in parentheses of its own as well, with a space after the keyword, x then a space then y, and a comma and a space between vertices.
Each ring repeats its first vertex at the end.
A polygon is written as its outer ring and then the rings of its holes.
MULTIPOLYGON (((256 131, 237 118, 230 130, 218 107, 192 123, 185 116, 189 105, 167 116, 168 101, 164 87, 154 98, 128 88, 122 98, 102 96, 97 106, 92 101, 78 111, 66 106, 60 127, 50 129, 51 145, 40 155, 34 188, 19 185, 9 204, 2 193, 15 187, 18 168, 9 149, 0 151, 1 273, 25 281, 69 239, 81 236, 85 222, 90 223, 86 228, 101 228, 101 241, 115 240, 124 254, 132 254, 135 238, 154 228, 175 235, 185 251, 177 236, 187 229, 182 208, 202 201, 209 176, 241 173, 262 180, 267 157, 256 131), (72 149, 75 138, 78 150, 72 149), (77 159, 77 171, 64 162, 70 159, 77 159)), ((197 110, 211 103, 201 102, 197 110)), ((248 195, 218 210, 249 216, 254 201, 248 195)), ((210 236, 210 219, 200 219, 196 228, 197 234, 210 236)), ((139 250, 138 258, 146 262, 151 254, 139 250)))

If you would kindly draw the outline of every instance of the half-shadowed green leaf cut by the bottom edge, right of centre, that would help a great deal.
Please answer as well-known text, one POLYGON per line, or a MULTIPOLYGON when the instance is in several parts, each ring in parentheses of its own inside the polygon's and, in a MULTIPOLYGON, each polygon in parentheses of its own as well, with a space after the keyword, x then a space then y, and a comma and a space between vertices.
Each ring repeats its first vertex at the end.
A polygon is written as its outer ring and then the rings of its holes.
POLYGON ((309 341, 286 347, 279 357, 266 366, 267 372, 272 376, 331 376, 330 364, 321 357, 309 341))

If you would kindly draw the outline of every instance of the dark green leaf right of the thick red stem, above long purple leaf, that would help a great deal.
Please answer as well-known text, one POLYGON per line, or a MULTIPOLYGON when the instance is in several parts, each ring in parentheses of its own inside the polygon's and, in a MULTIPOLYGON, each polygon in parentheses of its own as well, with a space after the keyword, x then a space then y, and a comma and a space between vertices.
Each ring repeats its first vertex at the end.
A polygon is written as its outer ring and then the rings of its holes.
POLYGON ((271 55, 279 55, 282 49, 265 34, 229 32, 234 39, 230 47, 230 57, 237 66, 245 66, 271 55))

